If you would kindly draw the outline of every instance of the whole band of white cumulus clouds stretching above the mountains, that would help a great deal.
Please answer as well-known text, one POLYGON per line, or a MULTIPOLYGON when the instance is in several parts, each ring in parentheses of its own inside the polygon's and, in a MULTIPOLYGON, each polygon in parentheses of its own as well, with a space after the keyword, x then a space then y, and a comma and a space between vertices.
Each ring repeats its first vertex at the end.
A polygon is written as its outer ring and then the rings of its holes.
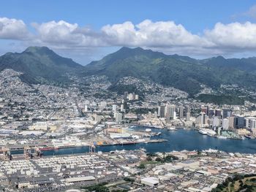
POLYGON ((29 34, 22 20, 0 18, 0 39, 26 39, 27 45, 56 49, 88 50, 90 47, 146 47, 165 53, 211 55, 241 53, 256 48, 256 23, 217 23, 201 35, 173 21, 143 20, 102 26, 99 31, 64 20, 32 23, 29 34))

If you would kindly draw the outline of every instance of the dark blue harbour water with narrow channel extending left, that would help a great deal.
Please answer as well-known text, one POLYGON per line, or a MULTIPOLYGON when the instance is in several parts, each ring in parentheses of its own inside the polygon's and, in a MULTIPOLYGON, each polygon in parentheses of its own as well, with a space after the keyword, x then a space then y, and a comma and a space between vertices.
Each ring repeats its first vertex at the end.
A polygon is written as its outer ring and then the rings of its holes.
MULTIPOLYGON (((137 126, 136 130, 145 129, 137 126)), ((199 134, 195 130, 179 129, 177 131, 168 131, 157 128, 151 128, 154 132, 162 132, 159 137, 154 139, 167 139, 167 142, 161 143, 141 143, 135 145, 112 145, 99 146, 96 151, 109 152, 111 150, 136 150, 144 147, 148 153, 170 152, 173 150, 206 150, 209 148, 223 150, 232 153, 256 153, 256 139, 217 139, 199 134)), ((72 153, 87 153, 89 147, 73 147, 59 150, 44 151, 44 155, 64 155, 72 153)), ((13 153, 14 154, 14 153, 13 153)))

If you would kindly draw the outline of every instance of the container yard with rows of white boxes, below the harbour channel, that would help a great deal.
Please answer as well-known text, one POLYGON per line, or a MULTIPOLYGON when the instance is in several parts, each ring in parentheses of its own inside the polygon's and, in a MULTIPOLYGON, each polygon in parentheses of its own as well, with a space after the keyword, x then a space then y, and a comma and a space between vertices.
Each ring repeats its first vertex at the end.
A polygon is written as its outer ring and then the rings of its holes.
POLYGON ((140 161, 143 154, 143 151, 135 150, 0 161, 0 180, 18 191, 30 191, 33 188, 61 191, 118 180, 129 174, 118 163, 140 161))

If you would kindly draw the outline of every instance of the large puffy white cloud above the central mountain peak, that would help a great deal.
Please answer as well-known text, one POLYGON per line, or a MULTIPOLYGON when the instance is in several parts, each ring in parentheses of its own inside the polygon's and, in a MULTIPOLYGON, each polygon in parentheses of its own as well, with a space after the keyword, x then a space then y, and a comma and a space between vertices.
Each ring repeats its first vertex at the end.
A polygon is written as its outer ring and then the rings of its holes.
POLYGON ((191 34, 182 25, 173 21, 152 22, 144 20, 134 26, 131 22, 104 26, 102 31, 108 37, 109 44, 173 47, 173 46, 208 46, 209 42, 195 34, 191 34))

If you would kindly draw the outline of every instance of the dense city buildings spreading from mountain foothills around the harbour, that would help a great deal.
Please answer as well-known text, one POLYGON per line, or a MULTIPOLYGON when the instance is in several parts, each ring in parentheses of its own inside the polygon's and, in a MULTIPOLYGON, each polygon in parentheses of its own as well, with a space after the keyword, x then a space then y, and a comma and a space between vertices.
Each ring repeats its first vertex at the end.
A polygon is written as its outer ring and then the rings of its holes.
MULTIPOLYGON (((20 74, 12 69, 0 72, 1 191, 94 191, 91 186, 109 191, 213 191, 233 175, 256 174, 255 154, 97 150, 157 145, 166 142, 157 137, 164 129, 195 129, 217 139, 255 139, 252 102, 206 104, 176 88, 133 77, 118 83, 140 91, 118 94, 110 91, 104 76, 70 77, 72 85, 55 86, 29 85, 20 74), (45 155, 75 147, 88 150, 45 155)), ((236 91, 237 86, 222 88, 236 91)), ((211 89, 202 85, 202 93, 211 89)))

